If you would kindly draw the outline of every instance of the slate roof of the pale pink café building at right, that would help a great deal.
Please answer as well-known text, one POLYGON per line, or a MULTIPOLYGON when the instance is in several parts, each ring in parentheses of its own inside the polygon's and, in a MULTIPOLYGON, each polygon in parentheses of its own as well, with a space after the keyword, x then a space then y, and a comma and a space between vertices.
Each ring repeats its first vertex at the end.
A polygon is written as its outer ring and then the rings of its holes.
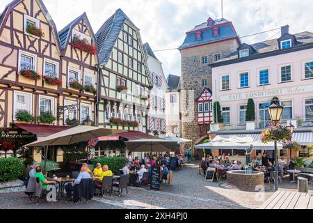
MULTIPOLYGON (((296 33, 296 34, 294 34, 294 36, 296 37, 296 44, 294 46, 292 46, 290 49, 299 47, 301 45, 313 43, 313 33, 310 33, 308 31, 305 31, 302 33, 296 33)), ((255 49, 255 52, 253 52, 253 54, 250 54, 250 56, 282 50, 282 49, 279 49, 278 38, 275 38, 272 40, 266 40, 266 41, 263 41, 260 43, 255 43, 255 44, 252 44, 250 46, 253 49, 255 49)), ((245 57, 245 59, 248 59, 248 58, 249 58, 249 56, 245 57)), ((216 63, 221 63, 224 61, 230 61, 230 60, 234 60, 234 59, 239 59, 237 51, 232 52, 232 54, 225 56, 223 59, 221 59, 220 61, 218 61, 216 63)), ((243 58, 241 58, 241 59, 243 59, 243 58)), ((215 64, 215 63, 212 63, 212 64, 215 64)))

